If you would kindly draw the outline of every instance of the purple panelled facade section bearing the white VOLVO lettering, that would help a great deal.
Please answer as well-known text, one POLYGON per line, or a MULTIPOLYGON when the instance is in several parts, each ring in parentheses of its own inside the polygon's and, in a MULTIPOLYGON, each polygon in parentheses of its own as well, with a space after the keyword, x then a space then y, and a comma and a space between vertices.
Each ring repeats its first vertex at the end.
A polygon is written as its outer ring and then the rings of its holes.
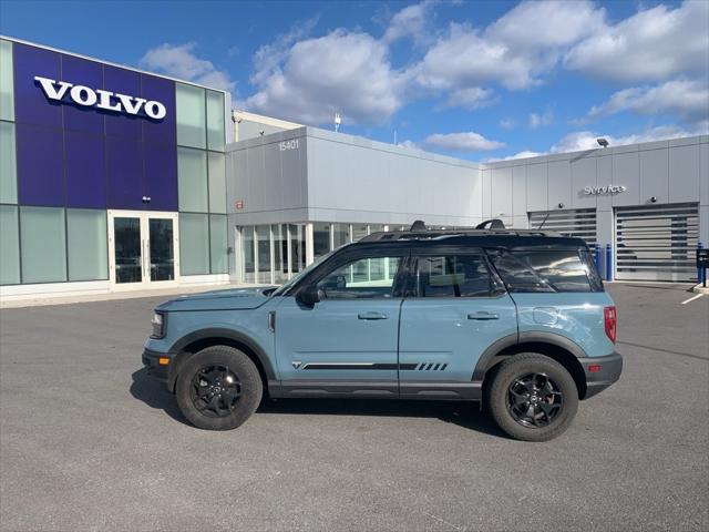
POLYGON ((21 205, 177 211, 173 81, 20 43, 13 54, 21 205))

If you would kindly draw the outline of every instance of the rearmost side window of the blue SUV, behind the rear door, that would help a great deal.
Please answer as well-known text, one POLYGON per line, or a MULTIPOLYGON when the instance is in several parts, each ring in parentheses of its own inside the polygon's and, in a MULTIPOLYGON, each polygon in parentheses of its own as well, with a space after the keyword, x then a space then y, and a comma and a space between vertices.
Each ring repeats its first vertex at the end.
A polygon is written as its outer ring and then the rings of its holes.
POLYGON ((510 291, 603 291, 587 250, 494 250, 490 254, 510 291))

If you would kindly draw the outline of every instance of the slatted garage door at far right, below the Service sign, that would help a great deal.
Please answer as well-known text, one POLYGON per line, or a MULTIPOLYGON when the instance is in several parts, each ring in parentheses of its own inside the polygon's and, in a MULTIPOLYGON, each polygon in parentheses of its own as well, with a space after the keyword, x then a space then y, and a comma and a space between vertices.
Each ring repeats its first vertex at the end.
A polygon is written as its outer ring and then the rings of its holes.
POLYGON ((616 278, 697 279, 699 205, 616 207, 616 278))

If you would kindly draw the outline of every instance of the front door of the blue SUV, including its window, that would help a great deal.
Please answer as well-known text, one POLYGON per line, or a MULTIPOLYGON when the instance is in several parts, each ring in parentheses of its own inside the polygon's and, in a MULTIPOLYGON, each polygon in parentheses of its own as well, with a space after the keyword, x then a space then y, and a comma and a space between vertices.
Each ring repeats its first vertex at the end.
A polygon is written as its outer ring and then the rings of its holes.
POLYGON ((408 253, 350 252, 309 280, 321 290, 319 303, 282 298, 275 338, 286 395, 398 393, 400 285, 408 253))

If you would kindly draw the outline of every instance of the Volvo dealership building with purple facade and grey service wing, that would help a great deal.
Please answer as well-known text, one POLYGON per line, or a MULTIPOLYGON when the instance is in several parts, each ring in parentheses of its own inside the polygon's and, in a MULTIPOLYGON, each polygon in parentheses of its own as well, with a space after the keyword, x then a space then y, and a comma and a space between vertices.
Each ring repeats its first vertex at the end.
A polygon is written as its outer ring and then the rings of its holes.
POLYGON ((372 232, 489 218, 610 245, 608 277, 693 282, 709 136, 476 164, 0 40, 3 299, 278 284, 372 232))

